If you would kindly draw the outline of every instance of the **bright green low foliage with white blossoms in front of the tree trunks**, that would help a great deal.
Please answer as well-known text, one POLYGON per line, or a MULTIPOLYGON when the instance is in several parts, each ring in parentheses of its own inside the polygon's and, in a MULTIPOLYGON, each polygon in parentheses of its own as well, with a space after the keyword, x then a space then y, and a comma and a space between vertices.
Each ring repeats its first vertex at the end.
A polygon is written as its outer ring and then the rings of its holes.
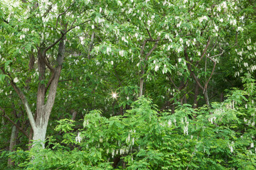
POLYGON ((86 114, 84 128, 73 132, 76 137, 66 135, 73 121, 58 121, 55 130, 65 132, 62 143, 71 150, 51 142, 53 149, 33 148, 11 157, 26 169, 112 169, 116 157, 125 162, 120 169, 255 169, 255 115, 245 109, 246 94, 235 89, 210 110, 183 105, 174 114, 139 98, 124 115, 86 114))

